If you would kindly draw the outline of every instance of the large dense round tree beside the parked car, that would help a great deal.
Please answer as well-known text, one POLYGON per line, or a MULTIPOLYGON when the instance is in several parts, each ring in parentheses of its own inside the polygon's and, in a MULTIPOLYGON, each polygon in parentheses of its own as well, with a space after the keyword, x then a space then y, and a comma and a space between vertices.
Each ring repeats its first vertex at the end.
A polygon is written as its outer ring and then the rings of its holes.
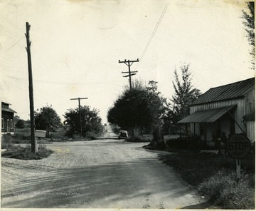
POLYGON ((149 86, 144 86, 141 81, 135 81, 132 91, 124 88, 122 95, 108 110, 107 120, 123 129, 159 129, 161 115, 164 113, 164 98, 157 91, 156 83, 149 81, 149 86))

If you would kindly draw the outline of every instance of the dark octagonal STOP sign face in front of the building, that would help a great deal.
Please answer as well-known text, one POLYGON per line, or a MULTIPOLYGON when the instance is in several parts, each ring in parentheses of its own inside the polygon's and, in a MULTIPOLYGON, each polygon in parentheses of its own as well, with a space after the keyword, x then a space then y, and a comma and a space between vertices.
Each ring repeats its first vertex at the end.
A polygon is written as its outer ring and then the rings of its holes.
POLYGON ((235 159, 245 158, 250 153, 250 140, 243 133, 235 133, 227 140, 227 152, 235 159))

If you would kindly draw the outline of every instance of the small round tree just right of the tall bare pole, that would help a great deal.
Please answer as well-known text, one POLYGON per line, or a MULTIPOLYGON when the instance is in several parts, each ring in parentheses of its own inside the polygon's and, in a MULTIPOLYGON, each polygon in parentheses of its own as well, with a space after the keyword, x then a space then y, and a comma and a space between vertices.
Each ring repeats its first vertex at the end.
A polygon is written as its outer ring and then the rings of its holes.
POLYGON ((35 111, 36 129, 46 130, 46 136, 50 132, 56 132, 61 125, 60 117, 51 106, 48 105, 35 111))

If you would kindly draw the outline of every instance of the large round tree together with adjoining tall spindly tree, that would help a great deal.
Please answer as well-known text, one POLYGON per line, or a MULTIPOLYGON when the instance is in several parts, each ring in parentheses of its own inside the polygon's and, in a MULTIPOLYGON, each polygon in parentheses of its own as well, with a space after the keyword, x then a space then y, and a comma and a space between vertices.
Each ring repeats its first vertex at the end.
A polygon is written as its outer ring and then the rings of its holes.
POLYGON ((148 84, 134 81, 132 91, 124 87, 109 108, 108 122, 119 125, 123 130, 136 130, 139 135, 152 133, 156 142, 161 141, 164 134, 178 133, 178 120, 189 115, 189 105, 201 95, 200 90, 193 88, 189 64, 183 64, 180 68, 181 76, 176 69, 174 71, 172 98, 164 98, 158 91, 156 81, 149 81, 148 84))

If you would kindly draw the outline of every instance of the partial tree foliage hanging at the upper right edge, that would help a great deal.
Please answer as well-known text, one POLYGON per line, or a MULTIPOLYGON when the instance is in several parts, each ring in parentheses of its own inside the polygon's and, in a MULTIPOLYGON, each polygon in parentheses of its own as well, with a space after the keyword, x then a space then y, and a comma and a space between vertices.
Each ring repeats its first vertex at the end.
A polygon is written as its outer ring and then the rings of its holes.
POLYGON ((247 32, 247 40, 252 46, 250 54, 252 55, 252 69, 255 69, 255 2, 247 2, 248 12, 242 10, 243 24, 245 25, 245 31, 247 32))

